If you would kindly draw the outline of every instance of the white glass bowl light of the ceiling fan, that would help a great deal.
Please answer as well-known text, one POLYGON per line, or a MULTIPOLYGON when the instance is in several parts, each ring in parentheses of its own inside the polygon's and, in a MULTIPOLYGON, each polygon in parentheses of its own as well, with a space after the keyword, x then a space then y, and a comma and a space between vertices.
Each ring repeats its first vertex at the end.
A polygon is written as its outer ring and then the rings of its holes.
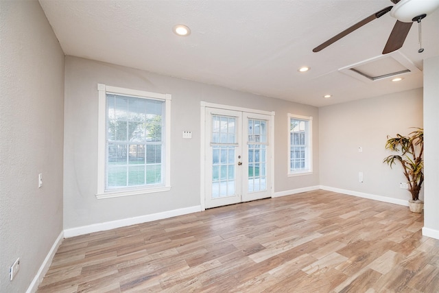
POLYGON ((401 0, 390 10, 390 15, 403 23, 411 23, 416 16, 430 14, 439 8, 439 0, 401 0))

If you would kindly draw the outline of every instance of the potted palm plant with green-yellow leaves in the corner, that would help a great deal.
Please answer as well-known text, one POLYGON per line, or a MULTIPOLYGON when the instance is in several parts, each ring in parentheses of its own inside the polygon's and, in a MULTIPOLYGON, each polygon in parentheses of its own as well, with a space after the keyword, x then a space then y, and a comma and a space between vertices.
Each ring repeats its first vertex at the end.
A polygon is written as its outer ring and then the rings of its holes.
POLYGON ((387 136, 385 148, 398 153, 385 157, 383 163, 387 163, 390 167, 401 163, 404 176, 407 178, 407 189, 412 194, 412 200, 409 200, 410 211, 422 212, 424 203, 419 200, 419 191, 424 182, 424 129, 416 128, 407 136, 401 134, 396 134, 396 137, 387 136))

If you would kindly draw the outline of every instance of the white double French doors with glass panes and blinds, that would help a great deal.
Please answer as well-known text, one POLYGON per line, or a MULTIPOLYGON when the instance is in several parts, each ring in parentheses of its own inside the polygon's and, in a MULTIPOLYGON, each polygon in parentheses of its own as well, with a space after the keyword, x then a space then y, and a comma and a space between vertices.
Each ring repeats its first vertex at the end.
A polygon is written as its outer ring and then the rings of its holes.
POLYGON ((271 116, 205 109, 205 207, 269 198, 271 116))

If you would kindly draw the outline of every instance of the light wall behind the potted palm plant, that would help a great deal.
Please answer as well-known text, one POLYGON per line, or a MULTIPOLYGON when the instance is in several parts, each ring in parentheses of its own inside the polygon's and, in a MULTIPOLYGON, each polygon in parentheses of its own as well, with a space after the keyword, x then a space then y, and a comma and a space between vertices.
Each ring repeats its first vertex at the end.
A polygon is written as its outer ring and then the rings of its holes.
POLYGON ((410 192, 399 188, 406 181, 402 168, 382 162, 390 154, 387 135, 408 134, 410 127, 423 127, 422 89, 320 108, 320 185, 396 199, 390 202, 409 200, 410 192))

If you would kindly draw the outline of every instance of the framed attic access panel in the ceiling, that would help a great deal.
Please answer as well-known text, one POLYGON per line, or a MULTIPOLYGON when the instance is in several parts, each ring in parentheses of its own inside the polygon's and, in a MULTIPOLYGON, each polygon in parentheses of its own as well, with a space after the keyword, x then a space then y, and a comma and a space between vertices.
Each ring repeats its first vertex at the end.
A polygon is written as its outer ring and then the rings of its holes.
POLYGON ((399 51, 370 58, 338 69, 338 71, 363 82, 375 82, 396 75, 401 76, 420 72, 418 67, 399 51))

